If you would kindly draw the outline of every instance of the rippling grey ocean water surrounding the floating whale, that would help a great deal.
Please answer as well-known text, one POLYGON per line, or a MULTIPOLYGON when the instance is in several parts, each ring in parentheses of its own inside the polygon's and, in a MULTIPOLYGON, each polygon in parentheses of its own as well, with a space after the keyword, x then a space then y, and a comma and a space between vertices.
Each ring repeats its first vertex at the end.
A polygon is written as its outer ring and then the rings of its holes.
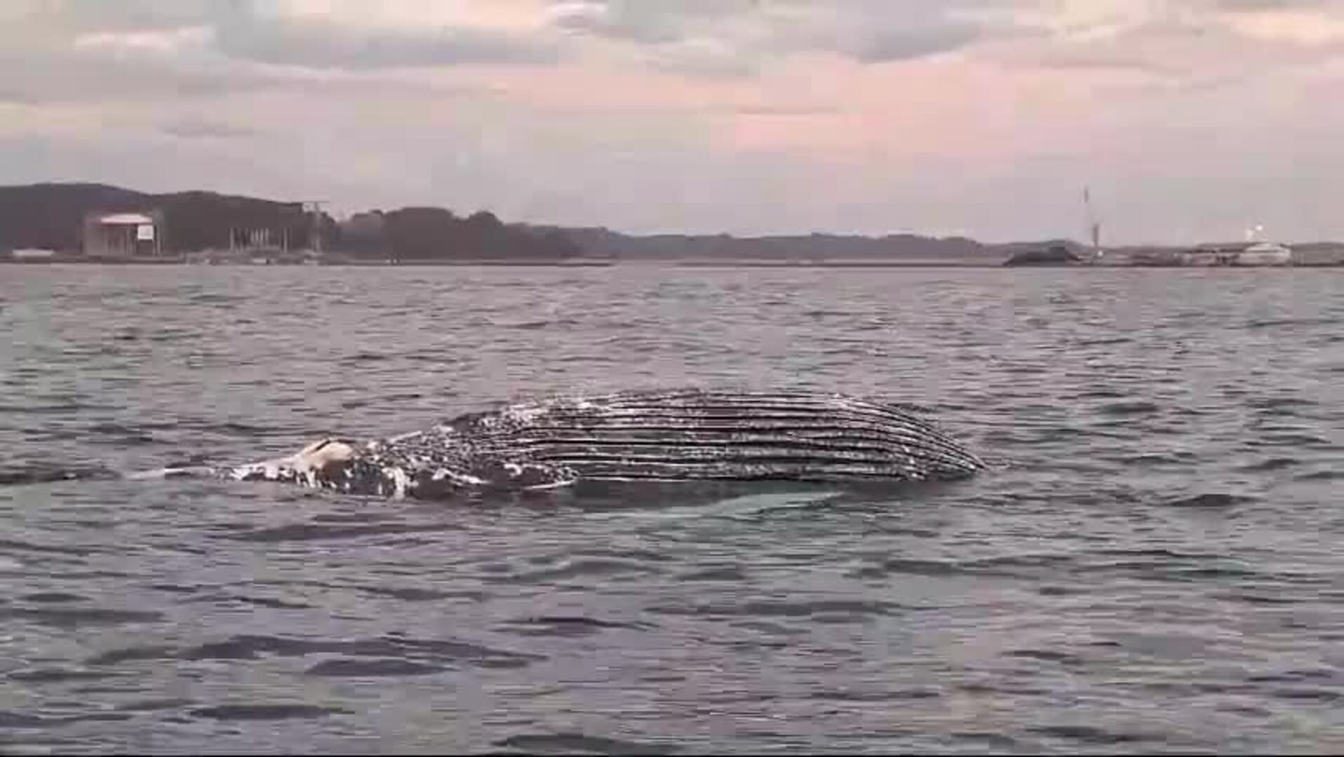
POLYGON ((7 266, 5 752, 1344 748, 1344 274, 7 266), (528 393, 821 387, 894 493, 55 481, 528 393))

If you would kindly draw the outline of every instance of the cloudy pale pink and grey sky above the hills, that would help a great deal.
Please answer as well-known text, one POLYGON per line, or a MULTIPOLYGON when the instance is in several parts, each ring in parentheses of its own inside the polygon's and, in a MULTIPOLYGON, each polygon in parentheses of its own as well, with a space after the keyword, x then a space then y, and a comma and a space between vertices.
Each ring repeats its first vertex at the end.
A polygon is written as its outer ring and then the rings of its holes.
POLYGON ((1344 0, 4 0, 0 184, 1344 239, 1344 0))

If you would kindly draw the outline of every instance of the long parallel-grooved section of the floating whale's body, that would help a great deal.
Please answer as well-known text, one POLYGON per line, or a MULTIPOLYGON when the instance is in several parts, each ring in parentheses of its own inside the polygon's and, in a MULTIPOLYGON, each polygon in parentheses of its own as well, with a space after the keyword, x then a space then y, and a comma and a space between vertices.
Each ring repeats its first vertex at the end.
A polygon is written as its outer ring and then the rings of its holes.
POLYGON ((984 468, 907 411, 808 391, 552 397, 461 416, 445 431, 473 455, 587 481, 933 481, 984 468))

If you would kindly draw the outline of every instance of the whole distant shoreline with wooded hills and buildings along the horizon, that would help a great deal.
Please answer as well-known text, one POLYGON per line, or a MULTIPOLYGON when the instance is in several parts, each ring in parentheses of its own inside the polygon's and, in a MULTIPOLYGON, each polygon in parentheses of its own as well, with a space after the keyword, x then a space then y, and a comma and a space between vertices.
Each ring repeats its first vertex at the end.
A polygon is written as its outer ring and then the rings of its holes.
POLYGON ((505 223, 488 211, 372 209, 337 220, 316 204, 207 191, 144 193, 89 183, 0 187, 0 262, 17 264, 317 264, 687 268, 1327 267, 1344 242, 1101 246, 984 243, 886 234, 632 235, 505 223), (4 256, 4 251, 13 251, 4 256))

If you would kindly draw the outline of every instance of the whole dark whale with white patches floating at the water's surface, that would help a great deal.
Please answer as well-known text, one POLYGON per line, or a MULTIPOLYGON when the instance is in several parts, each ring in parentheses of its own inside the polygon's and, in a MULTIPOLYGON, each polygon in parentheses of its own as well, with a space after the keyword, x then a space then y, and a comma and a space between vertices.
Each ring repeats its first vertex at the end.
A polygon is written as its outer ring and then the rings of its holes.
POLYGON ((835 392, 667 389, 526 399, 384 439, 159 471, 442 499, 582 482, 926 482, 985 463, 931 420, 835 392))

